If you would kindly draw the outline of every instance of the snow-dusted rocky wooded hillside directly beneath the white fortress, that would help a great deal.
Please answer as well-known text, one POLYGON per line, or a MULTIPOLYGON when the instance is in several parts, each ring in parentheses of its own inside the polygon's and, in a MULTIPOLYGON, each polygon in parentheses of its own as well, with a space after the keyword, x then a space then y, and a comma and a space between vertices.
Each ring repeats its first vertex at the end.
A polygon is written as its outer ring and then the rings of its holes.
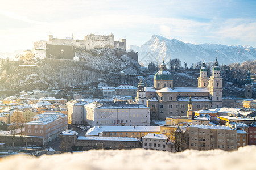
POLYGON ((104 80, 118 82, 120 71, 125 74, 139 73, 138 63, 128 56, 118 59, 111 49, 77 51, 77 56, 85 61, 44 59, 35 66, 12 63, 12 73, 7 74, 2 70, 1 90, 47 90, 83 86, 104 80))

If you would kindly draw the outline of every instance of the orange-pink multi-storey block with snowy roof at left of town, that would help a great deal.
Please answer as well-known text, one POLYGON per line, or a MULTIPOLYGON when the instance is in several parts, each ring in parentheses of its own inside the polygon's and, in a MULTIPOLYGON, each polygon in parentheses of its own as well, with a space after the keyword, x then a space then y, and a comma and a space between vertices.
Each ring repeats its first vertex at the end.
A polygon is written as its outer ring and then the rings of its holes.
POLYGON ((25 124, 25 135, 44 137, 44 143, 56 139, 61 131, 68 128, 68 116, 60 112, 44 112, 32 117, 25 124))

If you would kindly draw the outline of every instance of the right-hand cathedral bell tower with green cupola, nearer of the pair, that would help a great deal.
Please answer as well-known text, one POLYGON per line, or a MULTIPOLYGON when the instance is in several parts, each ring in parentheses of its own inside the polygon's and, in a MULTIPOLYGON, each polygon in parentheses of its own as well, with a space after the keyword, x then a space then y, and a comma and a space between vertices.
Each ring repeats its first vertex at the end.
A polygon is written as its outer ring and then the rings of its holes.
POLYGON ((212 69, 212 76, 209 79, 208 88, 210 92, 209 97, 212 99, 212 108, 222 107, 222 77, 220 76, 217 57, 212 69))

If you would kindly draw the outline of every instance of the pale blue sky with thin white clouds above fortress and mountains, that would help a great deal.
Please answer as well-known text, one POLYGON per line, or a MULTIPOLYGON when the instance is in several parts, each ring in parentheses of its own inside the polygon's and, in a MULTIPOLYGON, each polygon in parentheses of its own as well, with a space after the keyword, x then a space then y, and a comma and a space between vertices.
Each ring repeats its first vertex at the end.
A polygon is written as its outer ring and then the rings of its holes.
POLYGON ((193 44, 256 47, 256 1, 0 0, 0 52, 53 37, 114 34, 142 45, 154 34, 193 44))

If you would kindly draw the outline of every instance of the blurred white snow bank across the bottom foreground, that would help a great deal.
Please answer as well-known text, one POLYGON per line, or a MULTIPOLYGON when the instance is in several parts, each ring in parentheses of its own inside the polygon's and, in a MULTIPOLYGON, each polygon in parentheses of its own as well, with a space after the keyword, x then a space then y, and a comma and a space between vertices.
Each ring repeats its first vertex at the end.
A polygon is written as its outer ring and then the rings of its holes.
POLYGON ((1 169, 255 169, 256 146, 238 151, 187 150, 172 154, 152 150, 90 150, 40 158, 13 156, 0 161, 1 169))

